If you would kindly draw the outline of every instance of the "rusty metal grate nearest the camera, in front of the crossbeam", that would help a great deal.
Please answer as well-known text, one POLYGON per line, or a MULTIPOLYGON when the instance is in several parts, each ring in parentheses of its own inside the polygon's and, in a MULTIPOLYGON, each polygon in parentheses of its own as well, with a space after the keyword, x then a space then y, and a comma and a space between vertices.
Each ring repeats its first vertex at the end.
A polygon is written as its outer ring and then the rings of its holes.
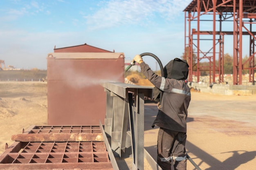
POLYGON ((110 162, 104 142, 29 142, 0 163, 110 162))

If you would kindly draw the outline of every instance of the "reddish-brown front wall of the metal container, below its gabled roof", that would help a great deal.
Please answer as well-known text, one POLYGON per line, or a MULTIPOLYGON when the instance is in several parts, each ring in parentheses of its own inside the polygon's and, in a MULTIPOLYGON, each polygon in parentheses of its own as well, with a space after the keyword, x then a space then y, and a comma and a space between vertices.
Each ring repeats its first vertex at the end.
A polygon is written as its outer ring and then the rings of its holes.
POLYGON ((49 53, 49 125, 99 125, 106 113, 103 82, 124 82, 124 53, 49 53))

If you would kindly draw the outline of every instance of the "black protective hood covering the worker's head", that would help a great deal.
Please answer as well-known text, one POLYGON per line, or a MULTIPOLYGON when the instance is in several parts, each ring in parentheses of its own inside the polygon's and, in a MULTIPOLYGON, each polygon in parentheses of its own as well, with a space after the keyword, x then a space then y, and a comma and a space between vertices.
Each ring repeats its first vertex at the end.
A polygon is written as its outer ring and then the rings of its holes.
POLYGON ((189 75, 189 64, 186 60, 175 58, 164 66, 164 77, 169 79, 185 80, 189 75))

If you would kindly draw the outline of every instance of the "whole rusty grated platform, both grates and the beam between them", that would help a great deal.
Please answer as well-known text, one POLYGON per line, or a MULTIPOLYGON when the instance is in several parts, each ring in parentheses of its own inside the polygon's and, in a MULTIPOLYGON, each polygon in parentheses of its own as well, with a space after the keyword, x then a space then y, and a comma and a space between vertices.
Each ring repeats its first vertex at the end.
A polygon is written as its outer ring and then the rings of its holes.
POLYGON ((113 170, 99 126, 31 126, 12 139, 1 170, 113 170))

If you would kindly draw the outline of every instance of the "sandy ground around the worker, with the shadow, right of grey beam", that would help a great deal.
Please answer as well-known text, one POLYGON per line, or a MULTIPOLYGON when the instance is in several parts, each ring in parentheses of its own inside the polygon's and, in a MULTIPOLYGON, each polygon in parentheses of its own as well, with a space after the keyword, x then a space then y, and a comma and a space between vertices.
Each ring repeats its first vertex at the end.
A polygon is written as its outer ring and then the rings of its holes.
MULTIPOLYGON (((256 169, 255 101, 256 95, 191 93, 186 150, 202 170, 256 169)), ((145 105, 144 147, 155 159, 158 129, 150 126, 156 113, 155 104, 145 105)))

